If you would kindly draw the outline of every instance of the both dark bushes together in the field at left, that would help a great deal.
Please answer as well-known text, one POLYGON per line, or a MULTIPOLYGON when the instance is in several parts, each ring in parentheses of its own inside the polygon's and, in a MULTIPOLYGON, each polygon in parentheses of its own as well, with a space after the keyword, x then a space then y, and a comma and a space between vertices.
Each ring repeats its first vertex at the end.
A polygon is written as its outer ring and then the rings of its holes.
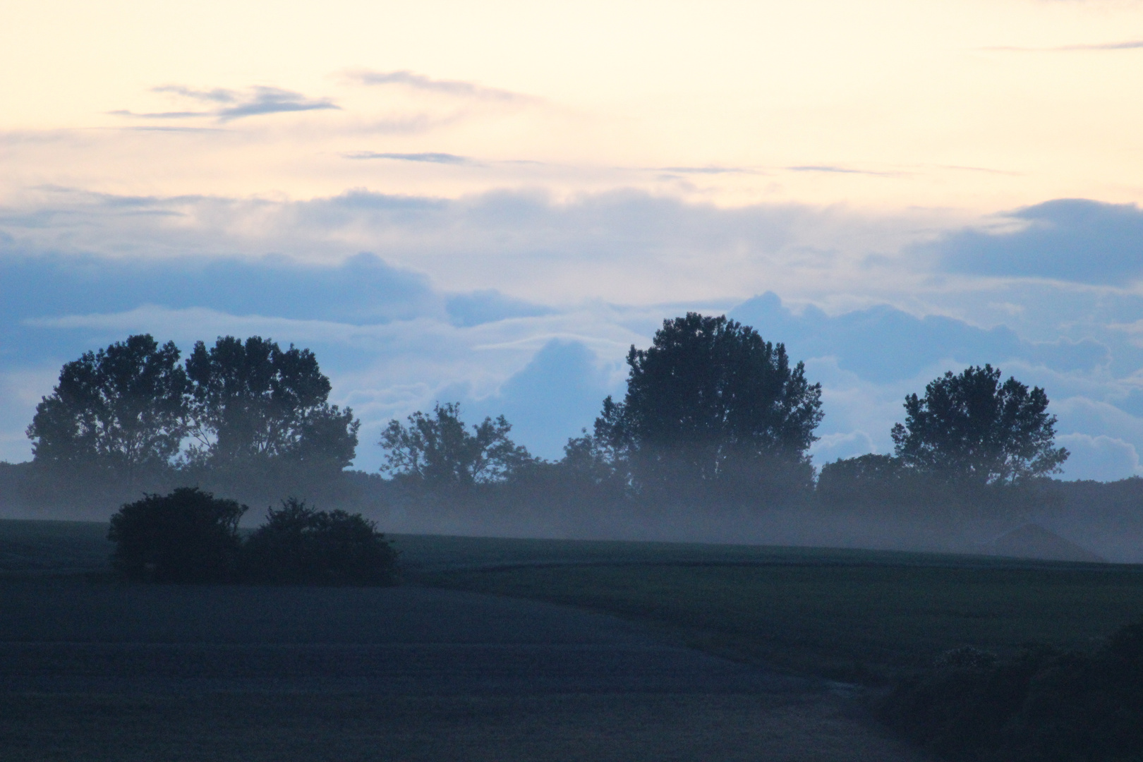
POLYGON ((360 514, 289 499, 242 540, 247 506, 181 487, 147 495, 111 518, 112 567, 155 583, 394 585, 397 552, 360 514))

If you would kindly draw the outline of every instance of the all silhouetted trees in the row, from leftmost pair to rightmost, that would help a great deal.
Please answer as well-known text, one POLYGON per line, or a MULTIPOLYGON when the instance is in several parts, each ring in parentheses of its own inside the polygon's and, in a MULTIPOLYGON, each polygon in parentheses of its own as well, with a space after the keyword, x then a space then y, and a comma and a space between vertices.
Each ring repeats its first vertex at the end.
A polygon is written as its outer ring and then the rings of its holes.
MULTIPOLYGON (((496 499, 504 487, 549 504, 694 507, 782 505, 814 491, 822 388, 784 345, 688 313, 665 320, 648 348, 632 346, 626 362, 623 399, 604 400, 559 462, 514 443, 503 416, 469 426, 445 403, 389 423, 382 471, 405 499, 454 505, 496 499)), ((293 475, 279 479, 289 494, 297 474, 336 481, 354 458, 360 423, 329 404, 329 391, 309 350, 227 336, 197 343, 181 363, 173 343, 130 336, 65 364, 27 434, 37 467, 111 474, 135 494, 154 474, 226 489, 266 473, 293 475)), ((1068 457, 1047 406, 1044 390, 1001 380, 991 366, 945 374, 905 398, 893 456, 826 464, 817 492, 853 504, 1032 482, 1068 457)))

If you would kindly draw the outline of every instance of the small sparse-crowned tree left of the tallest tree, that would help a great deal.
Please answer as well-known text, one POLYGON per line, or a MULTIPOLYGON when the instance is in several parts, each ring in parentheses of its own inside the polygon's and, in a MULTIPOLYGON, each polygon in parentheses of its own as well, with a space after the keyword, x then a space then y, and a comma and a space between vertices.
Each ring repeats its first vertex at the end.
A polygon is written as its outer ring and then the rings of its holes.
POLYGON ((512 425, 498 416, 472 426, 461 420, 459 403, 419 410, 402 425, 389 422, 378 444, 385 450, 382 471, 413 479, 432 489, 466 488, 502 481, 533 460, 528 450, 509 439, 512 425))

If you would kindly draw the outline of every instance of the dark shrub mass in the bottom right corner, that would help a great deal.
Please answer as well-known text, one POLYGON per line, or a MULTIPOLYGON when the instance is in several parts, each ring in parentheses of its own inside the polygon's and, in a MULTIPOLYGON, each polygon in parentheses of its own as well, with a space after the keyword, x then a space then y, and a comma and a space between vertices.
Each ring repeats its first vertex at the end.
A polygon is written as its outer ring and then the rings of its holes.
POLYGON ((897 685, 881 719, 946 760, 1140 762, 1143 621, 1094 653, 1028 648, 1000 660, 958 649, 897 685))

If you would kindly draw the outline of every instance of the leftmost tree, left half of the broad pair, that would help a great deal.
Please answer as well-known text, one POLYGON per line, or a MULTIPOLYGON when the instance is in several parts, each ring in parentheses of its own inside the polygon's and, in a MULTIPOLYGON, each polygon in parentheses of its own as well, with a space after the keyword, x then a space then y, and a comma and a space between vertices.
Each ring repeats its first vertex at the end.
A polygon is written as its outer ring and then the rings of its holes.
POLYGON ((189 388, 171 342, 127 337, 64 364, 27 427, 37 464, 107 471, 134 483, 166 470, 187 432, 189 388))

